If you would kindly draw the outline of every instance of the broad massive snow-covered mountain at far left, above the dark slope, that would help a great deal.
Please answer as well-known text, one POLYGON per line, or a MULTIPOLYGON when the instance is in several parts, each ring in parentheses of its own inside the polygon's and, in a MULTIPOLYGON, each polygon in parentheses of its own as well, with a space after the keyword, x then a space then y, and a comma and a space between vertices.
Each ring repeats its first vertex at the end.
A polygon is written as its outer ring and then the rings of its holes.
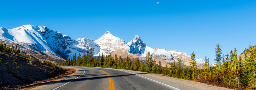
POLYGON ((0 27, 0 39, 21 42, 40 53, 53 57, 66 57, 65 41, 60 32, 47 29, 45 26, 23 25, 14 29, 0 27))

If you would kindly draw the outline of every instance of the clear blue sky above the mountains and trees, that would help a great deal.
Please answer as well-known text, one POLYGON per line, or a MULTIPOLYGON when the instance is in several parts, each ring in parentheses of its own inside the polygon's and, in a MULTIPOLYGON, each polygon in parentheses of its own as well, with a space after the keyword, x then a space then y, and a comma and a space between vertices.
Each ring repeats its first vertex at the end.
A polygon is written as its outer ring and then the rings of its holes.
POLYGON ((0 27, 47 26, 72 39, 106 31, 126 42, 135 35, 151 48, 177 50, 214 63, 215 47, 242 53, 256 44, 256 0, 2 0, 0 27), (157 2, 159 2, 157 4, 157 2))

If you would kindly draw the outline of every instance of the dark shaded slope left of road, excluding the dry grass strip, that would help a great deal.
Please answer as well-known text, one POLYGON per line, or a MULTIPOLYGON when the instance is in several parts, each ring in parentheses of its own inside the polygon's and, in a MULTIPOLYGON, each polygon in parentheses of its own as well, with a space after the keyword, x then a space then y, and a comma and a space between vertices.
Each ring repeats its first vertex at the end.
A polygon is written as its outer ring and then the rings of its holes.
POLYGON ((1 53, 0 56, 0 87, 23 86, 62 73, 57 67, 53 68, 37 60, 31 60, 31 64, 28 64, 30 59, 21 56, 7 53, 1 53))

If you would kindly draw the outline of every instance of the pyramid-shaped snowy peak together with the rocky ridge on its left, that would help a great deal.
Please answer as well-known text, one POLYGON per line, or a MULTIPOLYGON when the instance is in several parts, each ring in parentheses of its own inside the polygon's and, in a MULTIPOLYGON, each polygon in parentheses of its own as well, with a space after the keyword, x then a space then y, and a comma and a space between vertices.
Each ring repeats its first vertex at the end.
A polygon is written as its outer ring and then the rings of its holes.
POLYGON ((67 35, 63 35, 63 38, 68 47, 65 51, 69 56, 73 56, 75 53, 86 54, 90 48, 93 49, 95 56, 98 56, 99 54, 108 55, 126 44, 124 40, 113 36, 109 31, 105 32, 105 34, 97 40, 88 38, 79 38, 75 40, 67 35))

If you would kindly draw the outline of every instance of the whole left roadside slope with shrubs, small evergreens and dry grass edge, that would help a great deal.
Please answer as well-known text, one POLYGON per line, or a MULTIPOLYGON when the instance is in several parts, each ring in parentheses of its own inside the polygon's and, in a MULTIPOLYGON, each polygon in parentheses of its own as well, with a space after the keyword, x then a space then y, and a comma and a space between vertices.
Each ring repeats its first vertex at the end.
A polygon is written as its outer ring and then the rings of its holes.
POLYGON ((36 60, 15 47, 0 43, 0 90, 39 86, 72 74, 75 69, 36 60))

